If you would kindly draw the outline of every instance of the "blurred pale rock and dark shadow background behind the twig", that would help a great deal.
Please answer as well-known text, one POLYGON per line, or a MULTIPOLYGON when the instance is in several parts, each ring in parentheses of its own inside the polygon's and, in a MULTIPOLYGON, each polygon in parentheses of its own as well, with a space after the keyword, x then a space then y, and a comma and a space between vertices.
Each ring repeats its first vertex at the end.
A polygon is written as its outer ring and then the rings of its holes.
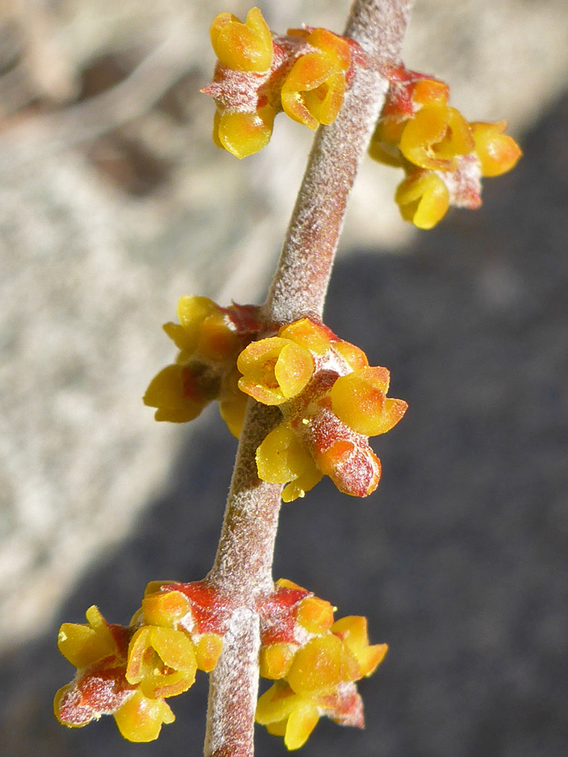
MULTIPOLYGON (((342 30, 347 2, 259 3, 283 31, 342 30)), ((214 556, 236 450, 215 407, 156 424, 181 294, 261 302, 311 135, 276 120, 239 162, 199 89, 204 0, 0 0, 0 753, 199 755, 205 677, 158 742, 51 714, 55 639, 96 603, 128 622, 151 579, 214 556)), ((566 0, 418 0, 408 67, 525 157, 475 213, 415 232, 396 170, 367 161, 326 320, 410 403, 376 440, 368 500, 318 484, 286 506, 275 577, 364 614, 390 652, 367 730, 322 721, 306 757, 560 757, 568 744, 566 0)), ((259 729, 261 754, 283 755, 259 729)))

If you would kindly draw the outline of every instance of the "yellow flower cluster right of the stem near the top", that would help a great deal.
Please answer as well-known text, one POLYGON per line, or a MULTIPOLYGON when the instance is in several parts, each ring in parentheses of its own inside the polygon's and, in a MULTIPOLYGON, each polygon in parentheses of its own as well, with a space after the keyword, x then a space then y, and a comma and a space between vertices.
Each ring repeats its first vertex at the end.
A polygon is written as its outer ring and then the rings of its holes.
POLYGON ((468 123, 448 105, 448 86, 399 68, 389 74, 385 106, 370 144, 380 163, 402 167, 395 200, 404 220, 432 229, 448 207, 481 204, 482 176, 511 170, 521 151, 506 121, 468 123))

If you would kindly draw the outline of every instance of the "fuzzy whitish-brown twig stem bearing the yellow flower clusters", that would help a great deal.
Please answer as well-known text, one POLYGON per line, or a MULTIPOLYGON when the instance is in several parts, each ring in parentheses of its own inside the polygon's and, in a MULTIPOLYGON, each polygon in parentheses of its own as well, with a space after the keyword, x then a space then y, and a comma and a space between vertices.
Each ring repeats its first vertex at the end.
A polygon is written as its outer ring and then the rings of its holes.
MULTIPOLYGON (((372 65, 359 68, 339 117, 317 133, 276 275, 264 304, 267 330, 321 316, 348 195, 397 64, 412 0, 355 0, 345 35, 372 65)), ((279 418, 249 400, 217 558, 208 580, 237 600, 220 663, 210 679, 205 757, 252 757, 260 645, 257 601, 273 588, 279 484, 259 481, 255 450, 279 418)))

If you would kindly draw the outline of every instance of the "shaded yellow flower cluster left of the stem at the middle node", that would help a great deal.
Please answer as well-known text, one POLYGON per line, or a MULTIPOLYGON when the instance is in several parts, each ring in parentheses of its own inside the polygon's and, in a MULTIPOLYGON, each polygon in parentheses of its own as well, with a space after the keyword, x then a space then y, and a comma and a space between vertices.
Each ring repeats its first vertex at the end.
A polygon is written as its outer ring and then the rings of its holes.
POLYGON ((179 349, 176 362, 152 379, 144 402, 158 408, 156 420, 181 423, 218 399, 223 420, 238 437, 246 397, 237 386, 236 358, 257 332, 257 308, 223 308, 206 297, 182 297, 177 315, 179 323, 164 326, 179 349))

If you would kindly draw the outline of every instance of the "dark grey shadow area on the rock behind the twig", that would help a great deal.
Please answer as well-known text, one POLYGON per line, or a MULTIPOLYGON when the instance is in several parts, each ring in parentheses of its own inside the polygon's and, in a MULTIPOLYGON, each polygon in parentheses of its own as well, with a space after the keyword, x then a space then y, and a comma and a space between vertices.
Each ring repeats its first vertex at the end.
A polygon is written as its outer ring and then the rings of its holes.
MULTIPOLYGON (((477 213, 410 254, 361 251, 335 271, 326 320, 389 366, 410 410, 376 440, 369 500, 324 481, 285 506, 275 577, 369 617, 390 652, 360 684, 367 730, 322 721, 302 754, 560 757, 568 743, 568 98, 526 139, 477 213)), ((151 578, 201 578, 214 556, 234 441, 203 425, 120 553, 61 609, 125 622, 151 578)), ((158 742, 111 718, 51 715, 70 666, 49 637, 0 666, 4 757, 199 755, 206 681, 173 699, 158 742)), ((258 753, 284 755, 259 729, 258 753)))

